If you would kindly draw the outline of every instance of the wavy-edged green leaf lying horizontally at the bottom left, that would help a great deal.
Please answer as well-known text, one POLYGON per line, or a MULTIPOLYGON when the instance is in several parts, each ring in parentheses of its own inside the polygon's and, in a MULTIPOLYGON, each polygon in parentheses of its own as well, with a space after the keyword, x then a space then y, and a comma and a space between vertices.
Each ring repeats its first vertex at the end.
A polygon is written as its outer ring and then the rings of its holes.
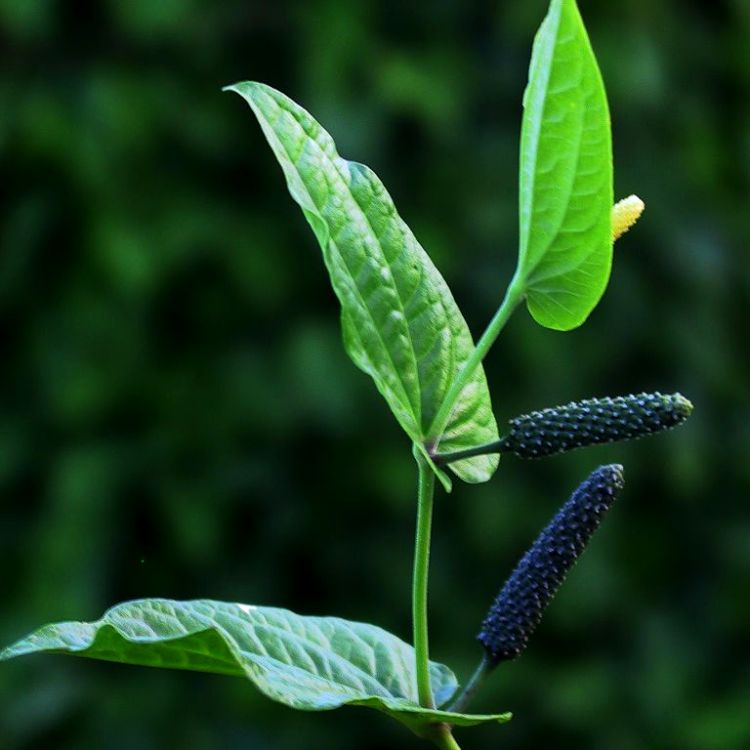
MULTIPOLYGON (((435 722, 469 726, 509 714, 469 715, 417 705, 414 650, 396 636, 337 617, 207 599, 142 599, 113 607, 93 623, 46 625, 0 651, 0 661, 52 652, 91 659, 245 677, 292 708, 369 706, 427 733, 435 722)), ((457 688, 453 673, 430 664, 435 700, 457 688)))

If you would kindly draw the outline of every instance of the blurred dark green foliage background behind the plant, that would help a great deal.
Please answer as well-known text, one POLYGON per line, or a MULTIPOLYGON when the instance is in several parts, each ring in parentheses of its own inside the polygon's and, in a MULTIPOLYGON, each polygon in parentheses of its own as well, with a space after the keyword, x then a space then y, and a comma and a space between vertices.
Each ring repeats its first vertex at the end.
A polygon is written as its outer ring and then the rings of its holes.
MULTIPOLYGON (((581 329, 519 311, 498 419, 680 390, 688 425, 437 502, 432 653, 465 677, 499 584, 573 487, 627 489, 465 750, 750 747, 750 4, 581 0, 616 194, 648 205, 581 329)), ((409 446, 340 346, 252 78, 371 165, 475 335, 515 261, 520 101, 543 0, 0 0, 0 642, 143 596, 338 614, 408 638, 409 446)), ((364 710, 62 657, 0 666, 0 747, 410 748, 364 710)))

